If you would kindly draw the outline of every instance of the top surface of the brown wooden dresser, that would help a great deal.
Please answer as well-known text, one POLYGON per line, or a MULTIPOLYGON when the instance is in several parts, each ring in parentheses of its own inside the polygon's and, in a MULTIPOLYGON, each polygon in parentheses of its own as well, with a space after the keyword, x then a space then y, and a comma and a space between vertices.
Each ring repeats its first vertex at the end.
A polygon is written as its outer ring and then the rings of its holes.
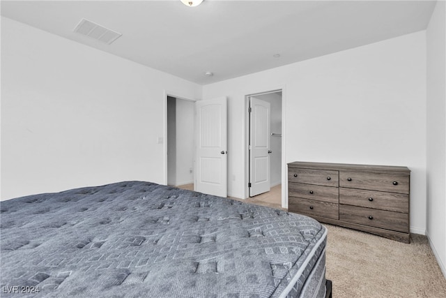
POLYGON ((288 163, 288 167, 300 167, 315 170, 380 170, 410 173, 408 167, 395 165, 355 165, 349 163, 313 163, 307 161, 295 161, 293 163, 288 163))

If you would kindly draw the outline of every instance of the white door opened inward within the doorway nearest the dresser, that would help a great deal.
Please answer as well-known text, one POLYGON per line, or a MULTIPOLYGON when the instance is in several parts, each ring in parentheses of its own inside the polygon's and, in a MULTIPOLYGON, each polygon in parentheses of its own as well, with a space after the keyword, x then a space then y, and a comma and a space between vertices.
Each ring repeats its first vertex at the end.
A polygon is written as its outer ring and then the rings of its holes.
POLYGON ((249 196, 270 191, 270 103, 249 99, 249 196))

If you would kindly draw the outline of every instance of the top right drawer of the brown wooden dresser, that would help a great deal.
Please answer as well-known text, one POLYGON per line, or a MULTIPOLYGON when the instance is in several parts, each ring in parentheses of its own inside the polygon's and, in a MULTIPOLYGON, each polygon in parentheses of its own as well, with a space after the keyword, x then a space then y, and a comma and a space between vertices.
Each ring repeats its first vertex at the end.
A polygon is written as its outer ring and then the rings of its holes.
POLYGON ((408 194, 409 180, 408 175, 399 173, 339 171, 339 186, 347 188, 408 194))

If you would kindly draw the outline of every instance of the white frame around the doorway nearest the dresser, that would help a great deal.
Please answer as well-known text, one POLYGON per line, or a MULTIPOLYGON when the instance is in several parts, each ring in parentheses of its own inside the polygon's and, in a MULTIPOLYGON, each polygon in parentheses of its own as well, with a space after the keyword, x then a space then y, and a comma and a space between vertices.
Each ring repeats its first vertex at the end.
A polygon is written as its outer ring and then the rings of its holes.
POLYGON ((243 133, 243 159, 245 164, 245 183, 243 187, 243 198, 249 198, 249 97, 259 96, 263 94, 272 94, 282 91, 282 208, 288 208, 288 178, 286 167, 286 87, 284 85, 263 89, 263 91, 253 91, 245 95, 245 117, 243 124, 245 124, 245 132, 243 133))

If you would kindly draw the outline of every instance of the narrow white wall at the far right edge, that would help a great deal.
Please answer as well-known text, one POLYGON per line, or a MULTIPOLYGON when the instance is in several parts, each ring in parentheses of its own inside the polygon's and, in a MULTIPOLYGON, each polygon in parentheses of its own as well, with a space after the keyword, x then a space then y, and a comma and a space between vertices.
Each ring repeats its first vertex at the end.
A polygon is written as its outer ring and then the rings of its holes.
POLYGON ((427 234, 446 276, 446 6, 438 1, 427 44, 427 234))

